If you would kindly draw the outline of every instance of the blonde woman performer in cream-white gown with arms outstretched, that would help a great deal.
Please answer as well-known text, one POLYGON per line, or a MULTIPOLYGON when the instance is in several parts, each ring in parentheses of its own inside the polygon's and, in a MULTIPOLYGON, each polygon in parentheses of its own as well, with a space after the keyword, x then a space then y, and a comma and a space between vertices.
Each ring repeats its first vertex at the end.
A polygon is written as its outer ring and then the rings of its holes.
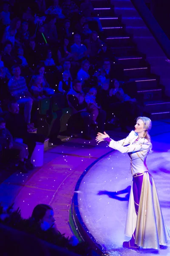
POLYGON ((123 242, 123 247, 139 250, 143 248, 159 249, 167 244, 170 237, 161 212, 159 198, 152 175, 146 165, 146 157, 152 151, 149 131, 151 120, 139 116, 135 131, 124 140, 114 141, 104 132, 98 133, 96 141, 106 141, 109 147, 121 153, 128 153, 130 170, 133 176, 127 210, 125 235, 130 241, 123 242))

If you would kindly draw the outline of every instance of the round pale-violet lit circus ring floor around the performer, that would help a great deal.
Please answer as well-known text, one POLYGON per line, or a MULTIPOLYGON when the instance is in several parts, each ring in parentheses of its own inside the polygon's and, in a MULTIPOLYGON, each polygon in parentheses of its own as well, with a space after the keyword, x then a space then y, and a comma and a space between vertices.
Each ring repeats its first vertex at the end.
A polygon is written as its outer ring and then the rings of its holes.
MULTIPOLYGON (((147 166, 156 183, 164 221, 170 227, 170 129, 156 127, 152 132, 153 154, 147 166)), ((74 218, 79 219, 80 233, 99 243, 113 256, 135 256, 139 253, 122 248, 132 177, 127 154, 111 151, 96 160, 80 177, 73 198, 74 218)), ((75 221, 76 222, 76 221, 75 221)), ((164 250, 141 249, 141 254, 170 256, 170 245, 164 250)))

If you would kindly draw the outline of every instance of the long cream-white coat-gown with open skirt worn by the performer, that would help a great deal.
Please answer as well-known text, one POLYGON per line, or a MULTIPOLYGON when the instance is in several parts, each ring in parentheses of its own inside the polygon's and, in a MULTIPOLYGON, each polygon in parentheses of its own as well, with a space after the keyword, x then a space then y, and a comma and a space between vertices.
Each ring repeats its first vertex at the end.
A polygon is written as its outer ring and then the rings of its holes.
POLYGON ((148 172, 146 157, 150 151, 150 143, 146 138, 138 141, 135 131, 123 140, 111 140, 109 147, 130 157, 130 171, 133 177, 143 175, 142 189, 139 201, 139 210, 136 214, 133 182, 127 210, 125 235, 132 237, 135 231, 135 244, 143 248, 159 249, 159 245, 167 244, 170 232, 167 229, 161 212, 159 198, 152 175, 148 172))

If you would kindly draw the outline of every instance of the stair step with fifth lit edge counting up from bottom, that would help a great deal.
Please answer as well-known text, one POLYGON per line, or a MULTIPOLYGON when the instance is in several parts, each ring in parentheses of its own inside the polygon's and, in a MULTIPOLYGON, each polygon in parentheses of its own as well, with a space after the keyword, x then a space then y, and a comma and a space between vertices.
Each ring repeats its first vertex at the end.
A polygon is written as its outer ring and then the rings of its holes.
POLYGON ((147 76, 149 72, 150 72, 150 67, 124 68, 124 75, 131 78, 147 76))

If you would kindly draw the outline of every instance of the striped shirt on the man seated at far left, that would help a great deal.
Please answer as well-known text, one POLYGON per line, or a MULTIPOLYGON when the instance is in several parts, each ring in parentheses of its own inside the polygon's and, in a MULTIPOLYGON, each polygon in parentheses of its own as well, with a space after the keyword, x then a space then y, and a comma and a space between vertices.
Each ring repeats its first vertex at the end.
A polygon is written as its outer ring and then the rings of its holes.
POLYGON ((20 79, 15 79, 14 76, 8 81, 8 89, 11 93, 11 96, 14 96, 16 100, 26 96, 28 88, 26 86, 26 80, 23 76, 20 76, 20 79))

